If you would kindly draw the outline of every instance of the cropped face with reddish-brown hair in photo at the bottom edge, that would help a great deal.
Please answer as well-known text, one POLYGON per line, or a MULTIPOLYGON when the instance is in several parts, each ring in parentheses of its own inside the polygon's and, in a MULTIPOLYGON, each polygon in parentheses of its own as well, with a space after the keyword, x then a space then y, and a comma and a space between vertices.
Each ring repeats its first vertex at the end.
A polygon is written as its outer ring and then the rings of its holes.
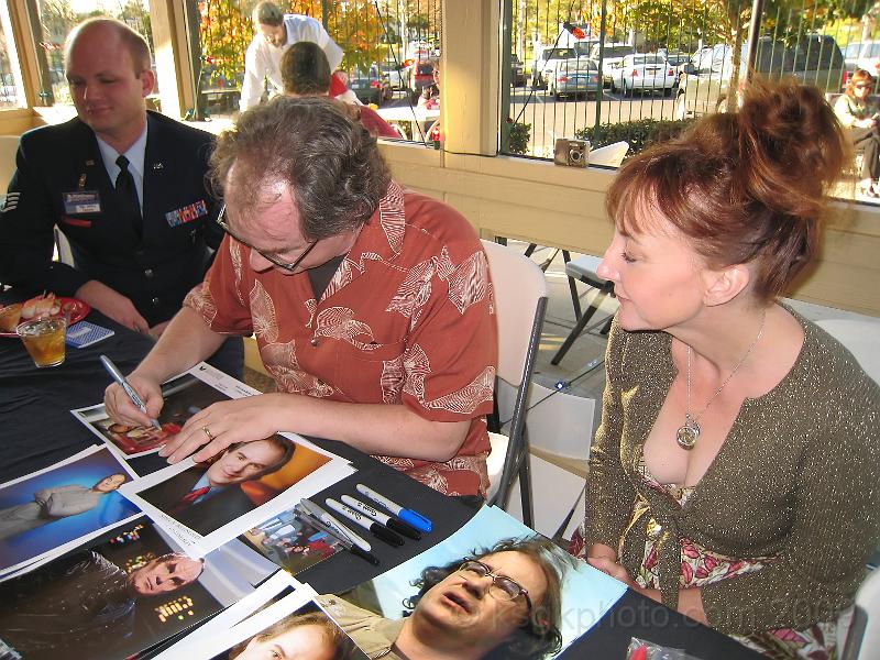
POLYGON ((294 614, 229 652, 229 660, 345 660, 352 640, 322 612, 294 614))

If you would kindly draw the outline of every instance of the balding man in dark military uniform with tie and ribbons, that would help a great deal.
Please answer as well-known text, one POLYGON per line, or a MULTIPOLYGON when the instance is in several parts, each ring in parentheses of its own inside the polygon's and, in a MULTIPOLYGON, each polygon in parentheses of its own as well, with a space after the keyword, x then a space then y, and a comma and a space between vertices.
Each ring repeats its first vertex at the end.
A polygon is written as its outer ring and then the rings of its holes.
MULTIPOLYGON (((205 187, 213 138, 146 111, 150 48, 124 23, 86 21, 65 53, 77 117, 21 138, 15 201, 0 215, 0 282, 74 296, 160 336, 222 238, 205 187), (52 261, 55 226, 73 265, 52 261)), ((216 365, 234 375, 242 363, 235 338, 216 365)))

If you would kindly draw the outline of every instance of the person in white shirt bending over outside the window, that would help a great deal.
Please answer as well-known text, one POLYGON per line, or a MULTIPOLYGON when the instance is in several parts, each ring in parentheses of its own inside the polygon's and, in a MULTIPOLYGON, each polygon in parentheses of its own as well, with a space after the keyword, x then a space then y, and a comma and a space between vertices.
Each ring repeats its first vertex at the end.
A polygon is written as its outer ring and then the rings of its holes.
MULTIPOLYGON (((266 78, 272 90, 282 94, 282 56, 288 46, 297 42, 307 41, 321 46, 331 72, 336 72, 342 63, 342 48, 320 21, 311 16, 285 14, 274 2, 260 2, 254 8, 253 22, 256 33, 244 54, 244 82, 239 102, 242 112, 260 105, 263 80, 266 78)), ((356 97, 338 74, 333 74, 330 95, 346 102, 356 102, 356 97)))

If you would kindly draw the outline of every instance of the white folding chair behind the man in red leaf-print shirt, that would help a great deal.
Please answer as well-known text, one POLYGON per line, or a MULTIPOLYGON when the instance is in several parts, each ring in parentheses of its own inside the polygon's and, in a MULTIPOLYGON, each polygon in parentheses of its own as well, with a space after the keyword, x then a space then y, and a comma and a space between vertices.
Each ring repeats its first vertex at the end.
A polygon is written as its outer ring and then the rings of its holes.
POLYGON ((547 280, 531 260, 514 250, 490 241, 483 241, 483 248, 488 258, 498 323, 495 407, 496 421, 501 422, 490 420, 492 453, 487 501, 505 508, 510 487, 519 476, 522 521, 532 527, 526 413, 547 308, 547 280), (499 432, 502 429, 507 430, 507 436, 499 432))

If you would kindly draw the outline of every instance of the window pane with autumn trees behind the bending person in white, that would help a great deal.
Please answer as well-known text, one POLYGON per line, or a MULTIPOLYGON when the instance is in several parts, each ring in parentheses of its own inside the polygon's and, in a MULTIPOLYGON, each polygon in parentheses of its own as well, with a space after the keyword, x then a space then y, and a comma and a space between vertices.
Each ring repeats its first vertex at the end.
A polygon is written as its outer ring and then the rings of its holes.
MULTIPOLYGON (((193 0, 190 0, 193 1, 193 0)), ((199 117, 231 118, 238 111, 244 53, 254 35, 255 0, 202 0, 198 7, 199 117)), ((440 0, 293 0, 286 12, 320 21, 344 55, 340 70, 362 102, 399 127, 406 138, 426 140, 439 103, 421 109, 419 95, 432 82, 440 56, 440 0)), ((266 97, 275 94, 271 85, 266 97)))

